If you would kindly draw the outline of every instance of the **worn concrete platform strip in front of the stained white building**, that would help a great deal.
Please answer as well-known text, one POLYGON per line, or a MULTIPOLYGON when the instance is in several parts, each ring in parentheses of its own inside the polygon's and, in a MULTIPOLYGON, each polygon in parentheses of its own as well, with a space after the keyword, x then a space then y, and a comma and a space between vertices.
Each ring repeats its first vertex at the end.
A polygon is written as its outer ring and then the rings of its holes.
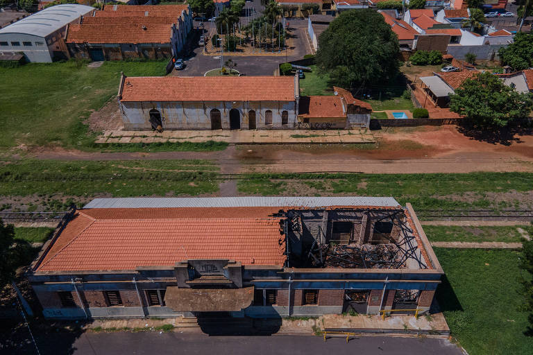
POLYGON ((369 130, 105 130, 103 143, 177 143, 223 141, 229 144, 365 144, 375 143, 369 130))

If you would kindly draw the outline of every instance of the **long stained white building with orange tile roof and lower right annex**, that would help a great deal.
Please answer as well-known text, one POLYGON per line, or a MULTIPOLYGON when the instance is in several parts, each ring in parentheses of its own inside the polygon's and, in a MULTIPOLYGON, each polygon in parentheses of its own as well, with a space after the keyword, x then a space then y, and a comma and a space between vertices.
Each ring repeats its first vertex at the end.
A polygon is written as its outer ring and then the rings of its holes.
POLYGON ((125 130, 368 127, 372 108, 350 92, 300 97, 298 76, 121 76, 125 130))

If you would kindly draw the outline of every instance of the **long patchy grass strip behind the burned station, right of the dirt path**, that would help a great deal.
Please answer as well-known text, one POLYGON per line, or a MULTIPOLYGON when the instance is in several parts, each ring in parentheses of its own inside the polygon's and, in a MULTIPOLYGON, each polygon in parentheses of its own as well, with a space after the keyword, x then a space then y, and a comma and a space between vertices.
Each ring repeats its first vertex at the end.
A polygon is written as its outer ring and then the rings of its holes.
POLYGON ((286 196, 393 196, 414 209, 533 207, 531 173, 248 174, 240 193, 286 196))

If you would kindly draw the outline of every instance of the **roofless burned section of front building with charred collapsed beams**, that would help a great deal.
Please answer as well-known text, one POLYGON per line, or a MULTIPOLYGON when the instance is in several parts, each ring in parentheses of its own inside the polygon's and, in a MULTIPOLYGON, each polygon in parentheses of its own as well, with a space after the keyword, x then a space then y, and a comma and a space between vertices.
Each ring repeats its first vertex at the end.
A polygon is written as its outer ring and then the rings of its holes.
POLYGON ((430 267, 404 209, 290 209, 286 217, 288 267, 430 267))

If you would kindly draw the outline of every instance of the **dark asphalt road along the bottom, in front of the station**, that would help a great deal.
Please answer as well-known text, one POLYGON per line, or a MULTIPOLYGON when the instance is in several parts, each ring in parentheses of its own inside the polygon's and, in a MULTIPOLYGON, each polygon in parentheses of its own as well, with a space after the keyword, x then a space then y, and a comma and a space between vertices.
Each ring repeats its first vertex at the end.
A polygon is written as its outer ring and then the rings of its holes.
MULTIPOLYGON (((205 336, 180 333, 86 333, 72 345, 76 355, 100 354, 394 354, 460 355, 448 340, 437 338, 330 338, 316 336, 205 336)), ((58 353, 59 354, 59 353, 58 353)))

